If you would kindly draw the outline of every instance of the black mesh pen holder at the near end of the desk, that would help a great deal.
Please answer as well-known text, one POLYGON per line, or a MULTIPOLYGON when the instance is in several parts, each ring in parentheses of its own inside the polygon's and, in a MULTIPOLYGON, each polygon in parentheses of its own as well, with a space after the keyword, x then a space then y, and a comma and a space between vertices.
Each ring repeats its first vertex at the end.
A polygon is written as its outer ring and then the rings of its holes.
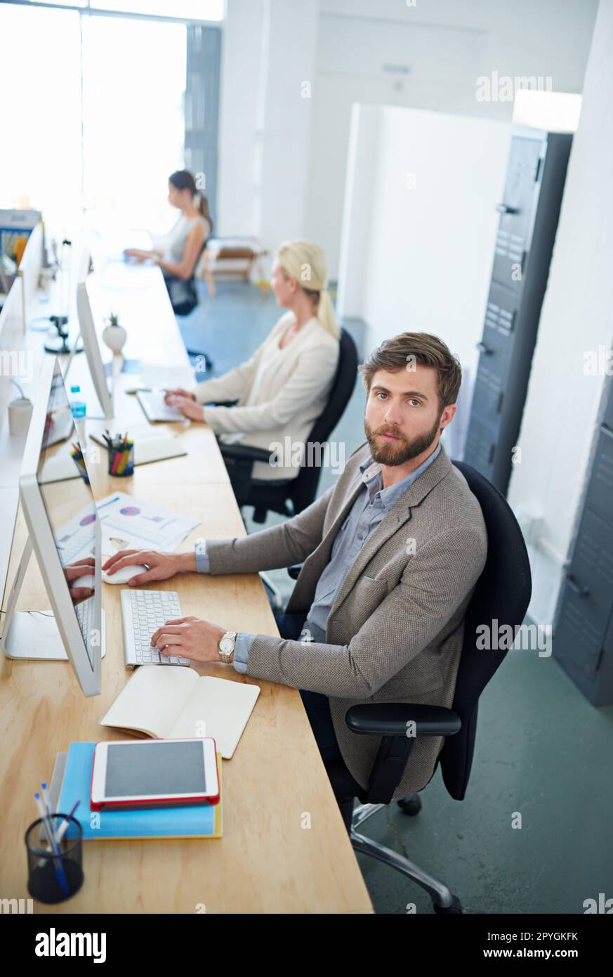
POLYGON ((27 891, 39 903, 61 903, 83 884, 83 830, 75 818, 65 814, 52 814, 49 820, 54 834, 62 822, 68 822, 58 842, 60 853, 42 846, 42 818, 30 825, 25 832, 27 891))

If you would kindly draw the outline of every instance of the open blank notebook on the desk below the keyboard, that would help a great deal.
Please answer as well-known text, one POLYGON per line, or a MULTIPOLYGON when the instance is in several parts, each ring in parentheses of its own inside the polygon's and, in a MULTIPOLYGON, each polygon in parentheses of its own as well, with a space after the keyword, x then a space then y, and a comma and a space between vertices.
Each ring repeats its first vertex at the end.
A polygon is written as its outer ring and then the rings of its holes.
POLYGON ((229 760, 259 695, 258 685, 199 676, 193 668, 141 665, 101 726, 154 740, 211 736, 229 760))

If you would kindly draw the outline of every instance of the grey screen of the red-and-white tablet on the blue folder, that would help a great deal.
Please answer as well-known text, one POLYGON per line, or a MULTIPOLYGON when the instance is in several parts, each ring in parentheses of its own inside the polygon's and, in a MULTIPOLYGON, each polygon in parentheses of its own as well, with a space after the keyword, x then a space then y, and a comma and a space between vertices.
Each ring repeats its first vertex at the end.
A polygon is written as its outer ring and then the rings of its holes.
POLYGON ((108 744, 105 796, 185 793, 206 793, 202 741, 108 744))

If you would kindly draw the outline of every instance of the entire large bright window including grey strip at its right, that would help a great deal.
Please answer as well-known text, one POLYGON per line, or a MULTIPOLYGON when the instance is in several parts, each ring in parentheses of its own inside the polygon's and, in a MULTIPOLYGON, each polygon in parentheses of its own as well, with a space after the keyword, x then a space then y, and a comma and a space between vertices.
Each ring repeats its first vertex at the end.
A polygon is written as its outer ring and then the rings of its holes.
POLYGON ((84 212, 86 226, 118 237, 163 233, 178 216, 168 177, 184 166, 206 173, 214 207, 219 27, 0 3, 0 36, 14 89, 0 207, 36 207, 54 236, 69 236, 84 212))

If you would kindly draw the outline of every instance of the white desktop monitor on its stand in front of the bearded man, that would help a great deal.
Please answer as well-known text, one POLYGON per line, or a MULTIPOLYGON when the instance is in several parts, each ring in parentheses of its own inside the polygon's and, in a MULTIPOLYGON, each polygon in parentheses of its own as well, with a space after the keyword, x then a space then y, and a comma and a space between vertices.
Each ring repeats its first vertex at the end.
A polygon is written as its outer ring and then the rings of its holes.
MULTIPOLYGON (((9 595, 0 649, 9 658, 68 659, 86 696, 101 691, 104 648, 101 527, 83 478, 44 483, 43 466, 61 445, 49 444, 54 418, 68 403, 58 360, 43 361, 20 473, 29 537, 9 595), (32 552, 51 610, 16 610, 32 552)), ((70 440, 78 445, 73 425, 70 440)))

